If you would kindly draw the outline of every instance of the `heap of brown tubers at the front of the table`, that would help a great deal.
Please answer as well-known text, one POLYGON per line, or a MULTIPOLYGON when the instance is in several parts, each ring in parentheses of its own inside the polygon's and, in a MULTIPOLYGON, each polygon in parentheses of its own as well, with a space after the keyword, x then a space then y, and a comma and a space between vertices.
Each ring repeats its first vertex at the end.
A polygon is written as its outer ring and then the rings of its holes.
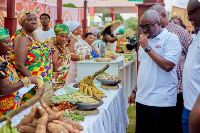
MULTIPOLYGON (((23 130, 30 130, 28 133, 80 133, 80 130, 83 130, 83 127, 80 124, 74 122, 73 120, 64 118, 62 116, 63 112, 58 111, 56 107, 54 109, 52 108, 52 111, 54 110, 53 114, 48 114, 44 107, 34 106, 33 108, 34 109, 32 110, 36 109, 34 112, 36 112, 39 118, 32 118, 32 121, 29 120, 29 123, 26 122, 26 125, 20 124, 20 129, 18 128, 20 132, 23 130)), ((29 114, 31 114, 31 116, 33 115, 32 112, 29 114)), ((26 119, 28 118, 29 114, 25 115, 26 119)), ((26 119, 23 119, 20 123, 24 123, 23 121, 26 119)))

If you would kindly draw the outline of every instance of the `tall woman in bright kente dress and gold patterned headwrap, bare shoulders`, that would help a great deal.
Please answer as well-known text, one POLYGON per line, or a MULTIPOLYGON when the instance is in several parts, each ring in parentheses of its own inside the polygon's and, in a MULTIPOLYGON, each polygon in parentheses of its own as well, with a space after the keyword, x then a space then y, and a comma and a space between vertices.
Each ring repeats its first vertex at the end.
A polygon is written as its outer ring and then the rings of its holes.
MULTIPOLYGON (((37 40, 33 31, 37 29, 37 17, 34 11, 24 11, 18 14, 18 23, 22 26, 11 38, 13 49, 10 60, 19 76, 42 76, 50 82, 53 72, 52 53, 49 44, 37 40)), ((27 92, 22 102, 32 98, 35 88, 27 92)))

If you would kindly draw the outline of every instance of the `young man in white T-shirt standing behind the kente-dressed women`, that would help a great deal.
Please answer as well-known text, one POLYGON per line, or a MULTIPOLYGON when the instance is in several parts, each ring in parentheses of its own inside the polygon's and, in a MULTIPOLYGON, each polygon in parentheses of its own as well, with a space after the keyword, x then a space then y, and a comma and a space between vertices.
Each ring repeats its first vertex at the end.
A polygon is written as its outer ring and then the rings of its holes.
POLYGON ((56 36, 54 29, 49 27, 50 16, 46 13, 40 15, 42 28, 35 30, 38 40, 44 42, 47 38, 56 36))

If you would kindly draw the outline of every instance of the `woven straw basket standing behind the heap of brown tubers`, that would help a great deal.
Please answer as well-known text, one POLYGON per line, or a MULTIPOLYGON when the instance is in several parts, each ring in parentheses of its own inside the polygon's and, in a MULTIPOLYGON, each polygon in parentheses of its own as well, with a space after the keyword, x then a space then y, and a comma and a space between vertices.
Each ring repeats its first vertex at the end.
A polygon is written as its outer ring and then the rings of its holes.
POLYGON ((53 102, 51 101, 51 98, 53 96, 55 96, 55 93, 53 91, 53 88, 50 86, 49 82, 44 82, 44 93, 42 95, 42 97, 40 98, 40 102, 43 101, 45 102, 47 105, 51 105, 53 104, 53 102))

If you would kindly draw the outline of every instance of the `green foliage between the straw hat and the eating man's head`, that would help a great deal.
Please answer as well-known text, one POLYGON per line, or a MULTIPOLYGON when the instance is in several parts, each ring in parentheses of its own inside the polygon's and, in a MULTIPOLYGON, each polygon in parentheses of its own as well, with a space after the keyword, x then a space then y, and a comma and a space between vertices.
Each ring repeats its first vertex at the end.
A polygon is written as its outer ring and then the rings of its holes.
POLYGON ((123 22, 124 25, 126 25, 128 28, 131 28, 132 30, 136 31, 137 33, 137 28, 138 28, 138 18, 137 17, 131 17, 129 19, 126 19, 123 22))

